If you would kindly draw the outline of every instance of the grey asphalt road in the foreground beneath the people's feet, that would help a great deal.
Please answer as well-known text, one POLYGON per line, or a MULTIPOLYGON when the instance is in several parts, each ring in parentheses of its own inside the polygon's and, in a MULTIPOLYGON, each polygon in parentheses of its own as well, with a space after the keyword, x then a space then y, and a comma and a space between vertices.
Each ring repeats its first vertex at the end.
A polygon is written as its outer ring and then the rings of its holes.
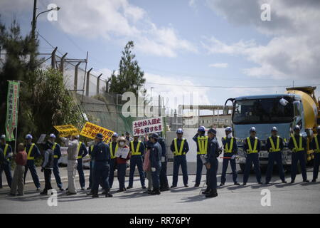
MULTIPOLYGON (((222 165, 219 165, 221 168, 222 165)), ((42 177, 43 174, 39 175, 42 177)), ((265 180, 265 176, 262 177, 262 180, 265 180)), ((310 168, 308 177, 309 179, 312 177, 310 168)), ((87 197, 87 191, 79 191, 78 195, 73 196, 58 192, 58 205, 51 207, 48 206, 49 196, 39 195, 33 182, 28 182, 25 186, 25 195, 21 197, 7 197, 8 187, 0 190, 0 213, 320 213, 320 182, 302 183, 301 175, 297 175, 296 183, 293 185, 282 184, 276 172, 272 178, 274 182, 270 185, 257 185, 255 175, 250 175, 246 187, 234 186, 232 177, 228 175, 226 185, 218 187, 218 197, 210 199, 201 194, 201 190, 205 189, 205 175, 201 187, 193 187, 195 178, 195 175, 189 175, 189 187, 185 188, 182 177, 179 176, 178 187, 156 196, 142 193, 139 177, 134 177, 132 190, 115 193, 118 187, 116 178, 112 198, 101 195, 98 199, 92 199, 87 197), (261 199, 264 195, 261 193, 265 189, 270 190, 271 206, 263 207, 261 199)), ((66 179, 63 180, 64 185, 67 185, 66 179)), ((242 182, 242 174, 238 175, 238 180, 242 182)), ((128 177, 126 186, 127 181, 128 177)), ((169 183, 171 181, 172 176, 169 175, 169 183)), ((43 182, 41 184, 44 185, 43 182)), ((78 180, 76 184, 79 187, 78 180)), ((53 180, 54 186, 55 180, 53 180)))

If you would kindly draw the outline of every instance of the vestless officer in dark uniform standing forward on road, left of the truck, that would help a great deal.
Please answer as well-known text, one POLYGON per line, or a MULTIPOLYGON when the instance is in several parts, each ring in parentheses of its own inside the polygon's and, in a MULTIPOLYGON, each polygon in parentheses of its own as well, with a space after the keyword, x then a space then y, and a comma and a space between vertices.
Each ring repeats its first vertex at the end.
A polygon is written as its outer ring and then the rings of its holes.
POLYGON ((207 178, 208 178, 208 192, 206 197, 217 197, 217 171, 218 171, 218 159, 219 153, 219 143, 215 135, 217 131, 213 128, 208 130, 208 152, 206 155, 206 168, 207 168, 207 178))

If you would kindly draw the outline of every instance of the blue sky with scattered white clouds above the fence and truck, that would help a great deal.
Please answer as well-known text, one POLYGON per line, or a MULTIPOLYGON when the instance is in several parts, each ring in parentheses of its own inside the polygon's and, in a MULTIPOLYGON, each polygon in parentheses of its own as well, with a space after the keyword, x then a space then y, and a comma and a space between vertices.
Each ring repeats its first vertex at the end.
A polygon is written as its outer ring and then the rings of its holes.
MULTIPOLYGON (((285 90, 261 86, 319 84, 317 1, 38 0, 38 12, 48 4, 61 7, 58 21, 43 14, 37 31, 61 53, 85 58, 89 51, 88 68, 107 78, 133 40, 147 90, 154 87, 153 94, 161 92, 169 103, 174 97, 181 102, 183 93, 198 94, 199 104, 223 104, 230 97, 285 90), (263 3, 270 4, 272 21, 261 21, 263 3)), ((17 19, 28 33, 32 8, 31 0, 1 1, 1 21, 17 19)), ((52 51, 38 38, 41 53, 52 51)))

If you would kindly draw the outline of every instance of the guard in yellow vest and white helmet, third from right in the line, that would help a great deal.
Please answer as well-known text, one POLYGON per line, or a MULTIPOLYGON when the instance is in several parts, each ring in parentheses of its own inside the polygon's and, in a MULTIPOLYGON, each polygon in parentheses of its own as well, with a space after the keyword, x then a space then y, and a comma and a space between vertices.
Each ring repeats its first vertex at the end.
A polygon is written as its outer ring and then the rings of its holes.
POLYGON ((271 136, 267 138, 267 143, 265 145, 265 149, 269 151, 267 174, 265 176, 266 185, 269 184, 271 180, 274 161, 277 162, 279 176, 282 180, 282 183, 287 183, 284 179, 284 170, 282 166, 282 150, 284 144, 282 138, 279 135, 277 135, 277 133, 277 128, 273 127, 271 129, 271 136))

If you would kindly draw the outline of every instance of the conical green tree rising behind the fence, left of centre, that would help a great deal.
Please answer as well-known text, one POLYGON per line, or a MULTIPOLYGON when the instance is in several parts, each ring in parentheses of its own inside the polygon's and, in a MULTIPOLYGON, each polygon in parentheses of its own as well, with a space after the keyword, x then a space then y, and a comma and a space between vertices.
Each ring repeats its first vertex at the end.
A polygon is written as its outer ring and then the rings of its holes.
POLYGON ((146 81, 144 71, 141 70, 138 61, 135 59, 136 56, 132 53, 133 48, 134 42, 129 41, 122 51, 119 71, 117 75, 115 71, 111 75, 111 93, 122 94, 131 91, 137 95, 138 88, 143 86, 146 81))

